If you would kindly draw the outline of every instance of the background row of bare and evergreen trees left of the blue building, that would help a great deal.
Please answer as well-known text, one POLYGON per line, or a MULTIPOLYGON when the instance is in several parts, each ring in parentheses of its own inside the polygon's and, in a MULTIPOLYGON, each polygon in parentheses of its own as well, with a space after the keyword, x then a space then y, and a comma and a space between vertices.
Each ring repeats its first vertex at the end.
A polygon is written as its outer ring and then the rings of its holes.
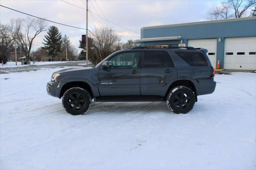
MULTIPOLYGON (((94 29, 88 35, 88 58, 93 64, 99 63, 102 59, 120 49, 130 49, 137 46, 132 40, 126 43, 120 42, 120 37, 111 28, 94 29)), ((24 57, 26 61, 66 61, 85 60, 86 47, 79 41, 81 49, 79 55, 76 47, 70 42, 70 38, 63 36, 56 26, 47 28, 44 20, 32 18, 12 19, 10 24, 0 24, 0 61, 14 61, 14 45, 18 58, 24 57), (41 32, 46 32, 43 42, 36 41, 41 32), (42 47, 32 50, 34 43, 42 43, 42 47), (32 56, 33 57, 32 57, 32 56)))

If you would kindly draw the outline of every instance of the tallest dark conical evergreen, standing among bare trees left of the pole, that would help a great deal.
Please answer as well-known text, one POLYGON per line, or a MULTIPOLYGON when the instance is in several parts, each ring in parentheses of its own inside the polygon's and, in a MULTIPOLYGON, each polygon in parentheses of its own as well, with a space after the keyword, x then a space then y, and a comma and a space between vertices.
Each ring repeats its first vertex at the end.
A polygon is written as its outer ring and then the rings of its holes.
POLYGON ((61 52, 62 36, 56 26, 50 26, 47 35, 44 36, 44 47, 46 48, 48 55, 53 58, 61 52))

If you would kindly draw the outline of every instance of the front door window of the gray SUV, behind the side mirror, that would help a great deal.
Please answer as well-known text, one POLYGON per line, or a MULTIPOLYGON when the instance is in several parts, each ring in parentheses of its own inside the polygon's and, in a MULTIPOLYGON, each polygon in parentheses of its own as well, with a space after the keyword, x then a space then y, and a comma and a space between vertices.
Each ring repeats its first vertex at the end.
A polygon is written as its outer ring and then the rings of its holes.
POLYGON ((128 52, 115 55, 109 60, 110 68, 138 68, 140 52, 128 52))

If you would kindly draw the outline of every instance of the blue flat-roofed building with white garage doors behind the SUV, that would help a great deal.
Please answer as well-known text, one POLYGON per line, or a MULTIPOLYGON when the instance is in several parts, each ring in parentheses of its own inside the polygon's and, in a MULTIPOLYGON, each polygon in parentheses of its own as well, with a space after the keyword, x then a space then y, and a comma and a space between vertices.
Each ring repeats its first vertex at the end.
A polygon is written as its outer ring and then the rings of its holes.
POLYGON ((256 16, 141 28, 142 46, 203 47, 214 68, 256 70, 256 16))

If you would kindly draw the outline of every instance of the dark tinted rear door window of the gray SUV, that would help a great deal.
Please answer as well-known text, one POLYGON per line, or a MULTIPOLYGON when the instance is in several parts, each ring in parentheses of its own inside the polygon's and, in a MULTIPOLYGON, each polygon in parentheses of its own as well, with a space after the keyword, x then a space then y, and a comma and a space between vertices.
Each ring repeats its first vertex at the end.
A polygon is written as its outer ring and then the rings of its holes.
POLYGON ((166 51, 144 51, 142 68, 174 67, 166 51))

